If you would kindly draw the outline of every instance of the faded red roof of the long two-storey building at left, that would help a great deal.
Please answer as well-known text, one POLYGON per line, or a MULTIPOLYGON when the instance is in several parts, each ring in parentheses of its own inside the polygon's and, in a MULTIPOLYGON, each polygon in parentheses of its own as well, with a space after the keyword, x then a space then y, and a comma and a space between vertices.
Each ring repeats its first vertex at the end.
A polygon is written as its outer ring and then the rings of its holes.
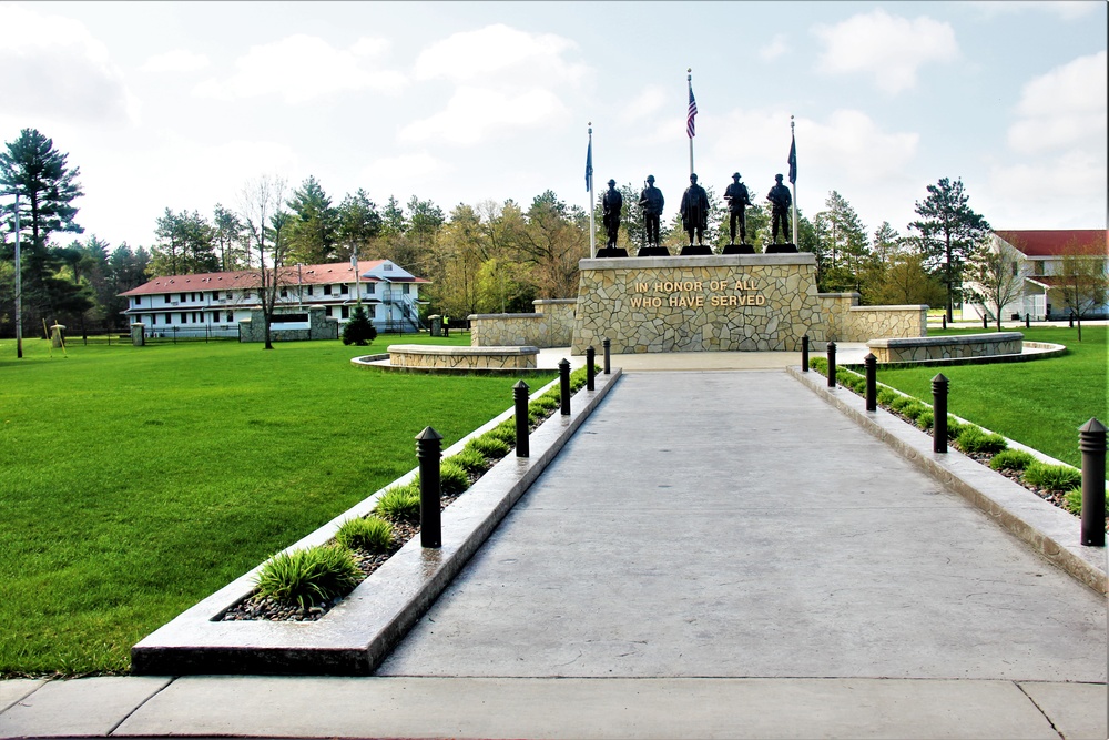
MULTIPOLYGON (((365 275, 368 271, 380 266, 385 260, 362 260, 358 262, 358 274, 365 275)), ((355 282, 354 267, 349 262, 333 262, 323 265, 296 265, 285 266, 282 270, 283 280, 292 285, 328 285, 334 283, 355 282)), ((381 282, 381 277, 363 277, 364 283, 381 282)), ((397 277, 387 281, 394 283, 429 283, 424 277, 397 277)), ((257 270, 238 270, 235 272, 213 272, 197 273, 194 275, 167 275, 155 277, 149 283, 132 288, 120 295, 150 295, 152 293, 189 293, 192 291, 230 291, 232 288, 252 287, 262 285, 262 278, 257 270)))

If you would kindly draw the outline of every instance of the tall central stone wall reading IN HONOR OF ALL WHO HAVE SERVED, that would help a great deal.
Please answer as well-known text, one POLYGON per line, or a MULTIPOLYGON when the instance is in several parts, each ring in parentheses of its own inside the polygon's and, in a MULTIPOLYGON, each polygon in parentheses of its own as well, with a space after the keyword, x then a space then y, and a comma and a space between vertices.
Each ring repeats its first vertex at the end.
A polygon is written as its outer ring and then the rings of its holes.
POLYGON ((573 354, 606 338, 614 354, 825 345, 812 254, 582 260, 580 275, 573 354))

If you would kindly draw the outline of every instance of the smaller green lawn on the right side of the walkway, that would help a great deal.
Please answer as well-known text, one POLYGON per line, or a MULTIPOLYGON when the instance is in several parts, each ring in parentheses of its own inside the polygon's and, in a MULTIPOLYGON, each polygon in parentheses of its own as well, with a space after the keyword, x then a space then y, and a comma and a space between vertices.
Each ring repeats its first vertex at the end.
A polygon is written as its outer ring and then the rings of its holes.
MULTIPOLYGON (((1105 325, 1083 326, 1081 342, 1072 328, 1032 326, 1015 331, 1029 342, 1066 345, 1068 352, 1062 357, 1025 363, 906 369, 879 366, 878 382, 930 404, 932 378, 943 373, 950 381, 948 409, 953 414, 1079 466, 1078 427, 1090 417, 1109 424, 1106 402, 1109 330, 1105 325)), ((980 333, 981 330, 929 330, 928 335, 980 333)))

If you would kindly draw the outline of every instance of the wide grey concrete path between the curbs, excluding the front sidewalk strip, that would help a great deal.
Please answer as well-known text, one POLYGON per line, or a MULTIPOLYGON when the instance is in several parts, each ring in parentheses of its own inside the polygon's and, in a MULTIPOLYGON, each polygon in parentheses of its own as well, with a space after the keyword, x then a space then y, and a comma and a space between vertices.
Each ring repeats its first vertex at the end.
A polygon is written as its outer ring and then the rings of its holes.
POLYGON ((634 373, 377 675, 1105 681, 1106 604, 784 373, 634 373))

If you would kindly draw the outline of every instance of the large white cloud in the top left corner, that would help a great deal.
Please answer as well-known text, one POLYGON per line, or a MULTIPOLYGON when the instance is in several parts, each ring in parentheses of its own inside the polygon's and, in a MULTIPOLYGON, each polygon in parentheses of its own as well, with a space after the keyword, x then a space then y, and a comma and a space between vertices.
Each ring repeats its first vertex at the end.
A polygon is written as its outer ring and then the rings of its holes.
POLYGON ((0 4, 0 100, 8 112, 82 124, 138 122, 138 99, 83 23, 34 6, 0 4))

